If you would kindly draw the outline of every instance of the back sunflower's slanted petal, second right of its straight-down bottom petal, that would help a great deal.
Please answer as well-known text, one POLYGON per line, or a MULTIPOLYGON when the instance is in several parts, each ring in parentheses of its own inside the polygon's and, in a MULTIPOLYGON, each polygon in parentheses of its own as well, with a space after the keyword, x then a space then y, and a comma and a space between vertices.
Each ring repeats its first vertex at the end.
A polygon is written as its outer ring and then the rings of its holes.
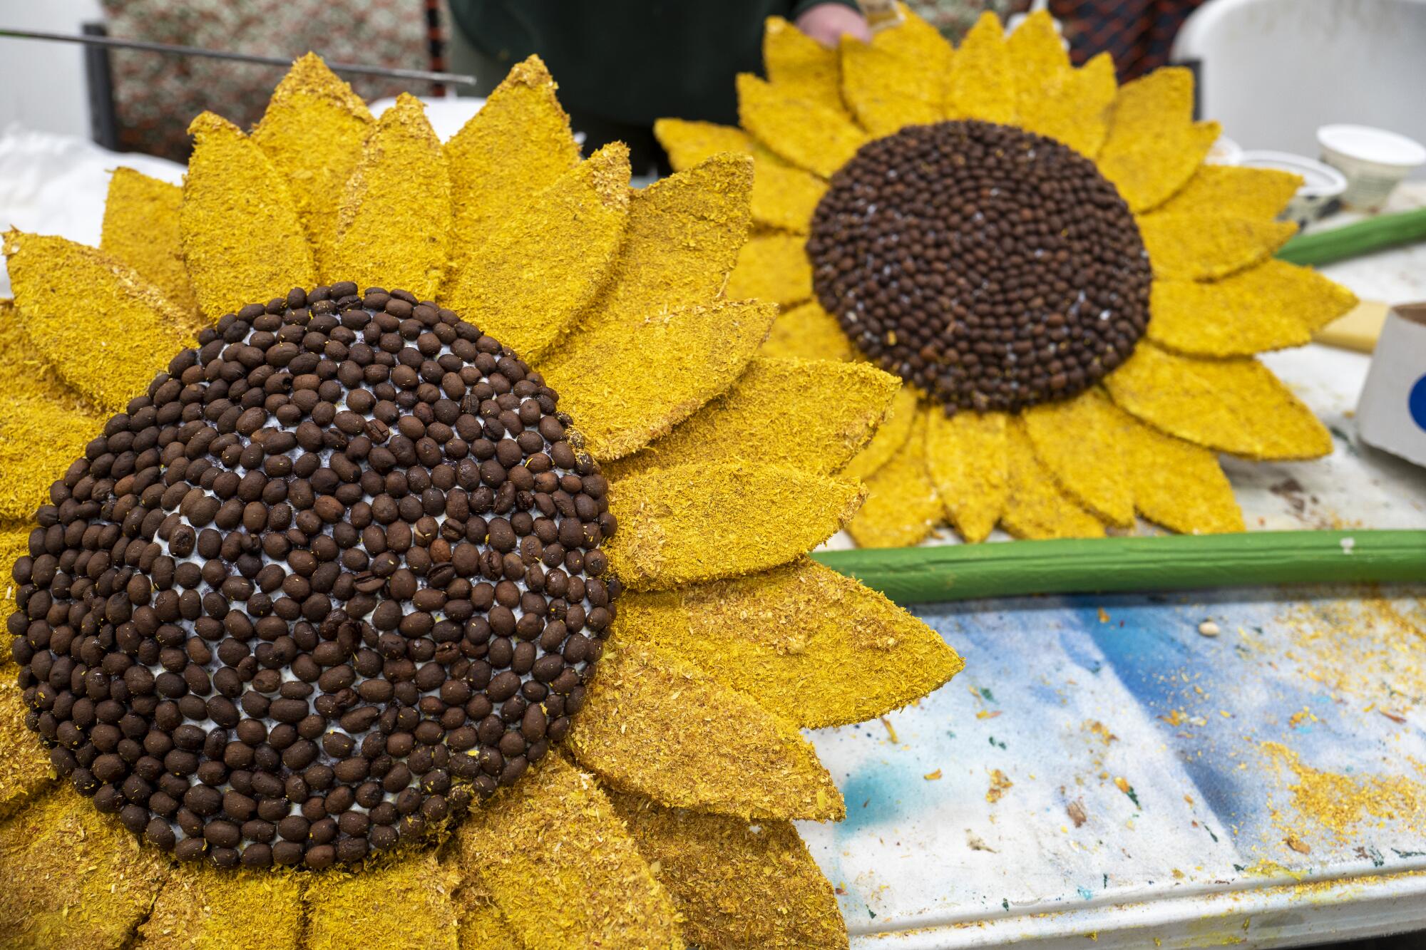
POLYGON ((1022 415, 1035 458, 1071 498, 1109 525, 1134 523, 1129 491, 1112 404, 1098 389, 1072 399, 1045 402, 1022 415))

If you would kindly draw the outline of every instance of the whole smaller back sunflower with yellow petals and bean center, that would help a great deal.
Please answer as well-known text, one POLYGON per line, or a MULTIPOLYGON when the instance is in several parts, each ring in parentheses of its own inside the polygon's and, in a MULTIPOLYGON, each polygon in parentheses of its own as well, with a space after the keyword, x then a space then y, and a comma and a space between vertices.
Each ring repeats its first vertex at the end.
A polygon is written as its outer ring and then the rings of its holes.
POLYGON ((903 379, 847 469, 870 489, 853 538, 1241 531, 1216 452, 1332 449, 1253 358, 1353 302, 1271 260, 1298 178, 1205 164, 1218 126, 1192 121, 1186 70, 1117 87, 1042 11, 1008 37, 985 14, 954 50, 903 16, 836 51, 769 20, 742 128, 657 126, 676 168, 753 154, 730 292, 784 307, 764 352, 903 379))

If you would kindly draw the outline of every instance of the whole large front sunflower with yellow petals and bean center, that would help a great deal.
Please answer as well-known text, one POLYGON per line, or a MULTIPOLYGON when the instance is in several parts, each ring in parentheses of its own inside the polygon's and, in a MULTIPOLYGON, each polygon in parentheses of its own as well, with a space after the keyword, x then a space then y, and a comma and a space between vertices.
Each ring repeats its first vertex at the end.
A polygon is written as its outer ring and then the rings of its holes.
POLYGON ((7 235, 6 947, 846 943, 799 727, 960 668, 804 556, 897 384, 756 355, 746 155, 632 191, 553 88, 442 145, 308 56, 7 235))

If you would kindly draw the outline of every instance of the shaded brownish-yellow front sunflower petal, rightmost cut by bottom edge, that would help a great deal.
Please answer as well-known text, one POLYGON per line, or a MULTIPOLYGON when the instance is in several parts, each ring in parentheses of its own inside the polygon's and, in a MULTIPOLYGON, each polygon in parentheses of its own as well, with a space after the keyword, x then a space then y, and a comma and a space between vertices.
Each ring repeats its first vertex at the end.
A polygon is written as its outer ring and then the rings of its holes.
POLYGON ((617 792, 610 800, 639 853, 659 869, 690 944, 700 950, 847 946, 831 883, 790 822, 749 824, 617 792))

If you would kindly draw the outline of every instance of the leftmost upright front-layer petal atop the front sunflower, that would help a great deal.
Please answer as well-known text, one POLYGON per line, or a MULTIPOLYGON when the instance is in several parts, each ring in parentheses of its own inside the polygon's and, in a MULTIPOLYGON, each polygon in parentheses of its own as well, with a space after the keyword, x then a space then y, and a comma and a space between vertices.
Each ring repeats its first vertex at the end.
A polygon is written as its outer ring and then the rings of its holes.
POLYGON ((282 173, 237 126, 212 113, 193 120, 188 134, 194 148, 178 230, 202 315, 212 321, 244 304, 312 287, 312 248, 282 173))

